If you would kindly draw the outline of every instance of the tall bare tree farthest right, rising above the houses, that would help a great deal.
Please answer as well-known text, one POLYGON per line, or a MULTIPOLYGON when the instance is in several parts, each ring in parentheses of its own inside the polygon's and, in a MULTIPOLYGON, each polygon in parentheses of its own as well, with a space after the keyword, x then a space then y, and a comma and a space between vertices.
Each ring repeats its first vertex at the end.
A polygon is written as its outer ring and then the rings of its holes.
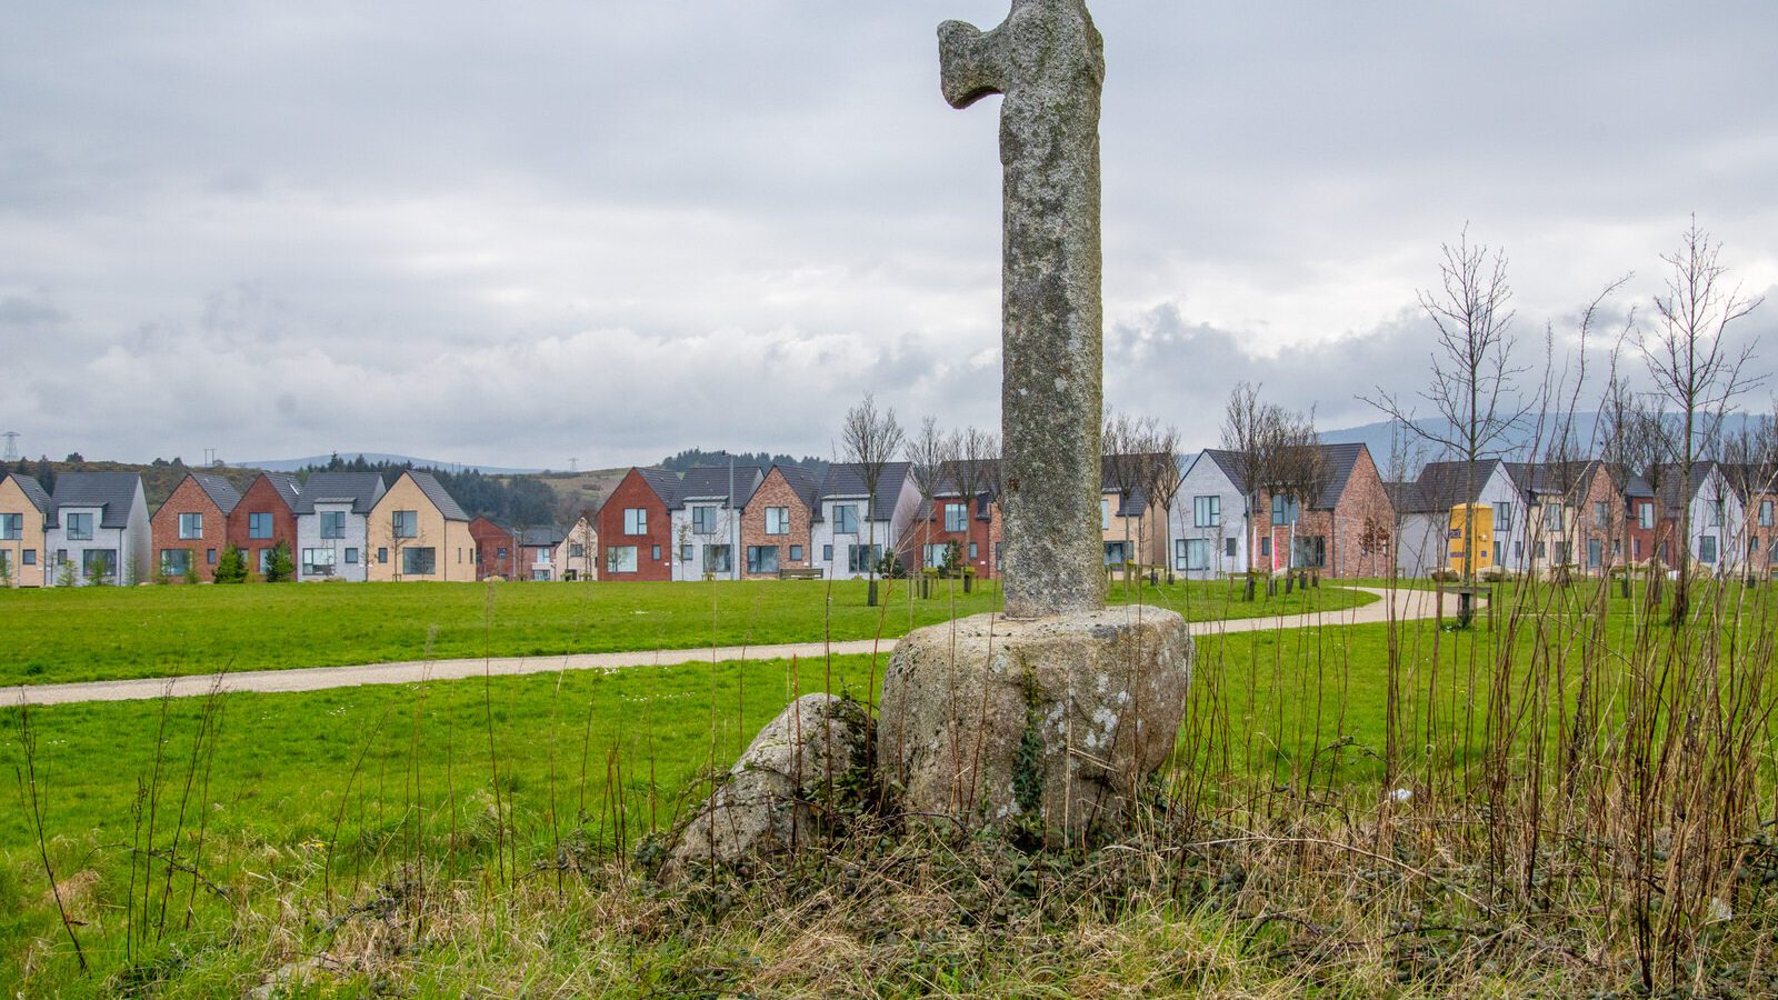
POLYGON ((1719 260, 1721 244, 1693 217, 1678 249, 1661 260, 1668 265, 1666 295, 1655 295, 1655 329, 1639 338, 1655 391, 1673 406, 1673 457, 1680 482, 1677 550, 1678 578, 1673 585, 1673 625, 1691 610, 1691 504, 1686 493, 1693 468, 1707 441, 1721 432, 1730 407, 1764 383, 1750 372, 1758 338, 1739 351, 1728 343, 1732 324, 1746 319, 1762 299, 1748 299, 1728 285, 1728 267, 1719 260))

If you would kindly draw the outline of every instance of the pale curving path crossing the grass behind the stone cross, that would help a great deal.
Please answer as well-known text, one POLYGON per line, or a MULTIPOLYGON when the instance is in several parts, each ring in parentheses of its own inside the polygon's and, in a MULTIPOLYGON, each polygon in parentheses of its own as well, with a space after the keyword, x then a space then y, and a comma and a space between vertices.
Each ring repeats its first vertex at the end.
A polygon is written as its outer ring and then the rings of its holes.
MULTIPOLYGON (((1193 635, 1230 632, 1269 632, 1278 628, 1317 628, 1330 625, 1374 625, 1433 617, 1433 591, 1382 591, 1353 587, 1380 600, 1360 607, 1275 617, 1191 623, 1193 635)), ((1454 612, 1454 605, 1451 609, 1454 612)), ((302 667, 290 671, 251 671, 238 674, 194 674, 181 678, 105 680, 84 683, 43 683, 5 690, 5 705, 69 705, 76 701, 144 701, 153 698, 201 698, 212 690, 295 692, 372 683, 418 683, 425 680, 464 680, 478 676, 548 674, 557 671, 619 671, 670 664, 709 664, 729 660, 788 660, 791 657, 836 657, 889 653, 894 639, 859 639, 848 642, 793 642, 784 646, 717 646, 704 649, 644 649, 631 653, 571 653, 565 657, 503 657, 482 660, 409 660, 363 667, 302 667)))

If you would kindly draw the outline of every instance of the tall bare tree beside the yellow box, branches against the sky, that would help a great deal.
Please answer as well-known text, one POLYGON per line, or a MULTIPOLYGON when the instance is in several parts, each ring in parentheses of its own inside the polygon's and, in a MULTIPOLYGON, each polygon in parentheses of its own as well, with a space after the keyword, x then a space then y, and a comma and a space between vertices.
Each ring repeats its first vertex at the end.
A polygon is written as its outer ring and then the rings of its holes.
MULTIPOLYGON (((1526 368, 1513 367, 1511 359, 1517 340, 1511 333, 1513 288, 1506 281, 1506 253, 1490 254, 1486 246, 1472 246, 1469 228, 1456 246, 1444 244, 1440 249, 1444 262, 1438 265, 1438 290, 1419 294, 1421 311, 1438 331, 1431 352, 1431 383, 1419 395, 1444 420, 1415 422, 1410 407, 1382 388, 1367 402, 1433 450, 1460 459, 1465 468, 1465 496, 1474 496, 1478 464, 1504 457, 1511 448, 1513 431, 1529 413, 1518 399, 1518 375, 1526 368)), ((1465 537, 1472 539, 1474 532, 1470 505, 1465 537)), ((1472 544, 1463 548, 1465 553, 1472 550, 1472 544)), ((1465 580, 1472 571, 1474 559, 1465 555, 1465 580)))

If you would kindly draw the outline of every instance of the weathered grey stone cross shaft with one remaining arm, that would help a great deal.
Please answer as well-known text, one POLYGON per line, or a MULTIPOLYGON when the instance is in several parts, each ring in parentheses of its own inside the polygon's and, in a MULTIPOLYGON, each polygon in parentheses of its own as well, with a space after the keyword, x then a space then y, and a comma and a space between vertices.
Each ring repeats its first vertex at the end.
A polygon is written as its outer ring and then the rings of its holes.
POLYGON ((1104 607, 1099 520, 1104 308, 1099 94, 1104 41, 1085 0, 1012 0, 983 34, 939 25, 944 100, 1001 105, 1001 509, 1008 617, 1104 607))

